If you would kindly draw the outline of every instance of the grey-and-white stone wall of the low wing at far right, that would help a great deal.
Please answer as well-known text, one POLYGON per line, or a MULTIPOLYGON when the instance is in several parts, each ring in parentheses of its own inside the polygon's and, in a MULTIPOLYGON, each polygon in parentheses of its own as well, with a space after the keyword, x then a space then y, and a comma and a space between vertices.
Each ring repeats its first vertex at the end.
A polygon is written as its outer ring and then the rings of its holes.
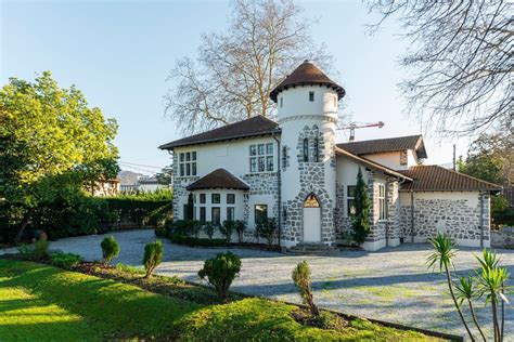
MULTIPOLYGON (((449 235, 454 239, 480 241, 480 195, 473 206, 467 199, 445 198, 447 193, 439 192, 435 199, 415 198, 414 193, 414 232, 411 232, 410 198, 400 207, 400 236, 406 241, 423 241, 435 237, 437 233, 449 235)), ((489 195, 484 195, 484 240, 490 238, 490 202, 489 195)))

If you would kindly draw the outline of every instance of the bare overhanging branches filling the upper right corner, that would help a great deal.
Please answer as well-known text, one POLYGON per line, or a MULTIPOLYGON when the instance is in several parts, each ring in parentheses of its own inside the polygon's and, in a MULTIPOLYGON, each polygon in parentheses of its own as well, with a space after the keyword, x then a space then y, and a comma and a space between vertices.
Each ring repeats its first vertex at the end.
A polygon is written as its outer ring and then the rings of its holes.
MULTIPOLYGON (((409 114, 444 135, 478 134, 513 116, 513 3, 386 0, 376 29, 397 17, 410 40, 400 87, 409 114)), ((501 127, 501 126, 498 126, 501 127)), ((504 128, 504 127, 502 127, 504 128)))

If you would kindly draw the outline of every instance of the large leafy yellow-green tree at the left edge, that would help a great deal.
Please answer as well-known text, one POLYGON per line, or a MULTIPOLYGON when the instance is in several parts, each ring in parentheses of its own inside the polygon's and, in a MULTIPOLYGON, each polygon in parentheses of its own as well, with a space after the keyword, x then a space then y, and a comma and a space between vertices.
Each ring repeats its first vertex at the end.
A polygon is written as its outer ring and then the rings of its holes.
POLYGON ((57 194, 113 176, 117 123, 91 108, 49 71, 34 82, 11 78, 0 90, 0 198, 21 208, 14 240, 57 194))

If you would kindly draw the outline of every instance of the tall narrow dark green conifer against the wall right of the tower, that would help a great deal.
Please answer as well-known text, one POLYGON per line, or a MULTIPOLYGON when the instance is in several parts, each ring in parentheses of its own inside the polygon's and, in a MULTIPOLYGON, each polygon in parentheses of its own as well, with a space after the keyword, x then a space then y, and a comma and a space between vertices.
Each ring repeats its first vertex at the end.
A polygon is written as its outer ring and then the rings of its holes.
POLYGON ((357 184, 354 194, 355 213, 351 214, 351 226, 354 228, 354 240, 362 244, 370 233, 370 196, 368 186, 362 177, 362 171, 359 168, 357 173, 357 184))

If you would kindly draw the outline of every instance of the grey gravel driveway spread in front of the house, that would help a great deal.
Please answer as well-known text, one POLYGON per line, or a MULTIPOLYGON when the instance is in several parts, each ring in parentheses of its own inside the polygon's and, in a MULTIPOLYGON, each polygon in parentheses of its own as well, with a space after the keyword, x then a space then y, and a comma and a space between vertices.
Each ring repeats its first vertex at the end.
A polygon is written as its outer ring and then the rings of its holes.
MULTIPOLYGON (((153 231, 113 234, 120 245, 114 262, 141 265, 143 248, 155 239, 153 231)), ((104 236, 61 239, 52 249, 81 254, 87 260, 100 260, 100 241, 104 236)), ((177 275, 198 281, 196 275, 205 259, 227 249, 190 248, 163 240, 165 258, 157 268, 162 275, 177 275)), ((364 317, 395 321, 414 327, 464 334, 454 313, 445 276, 427 271, 427 245, 402 245, 378 252, 343 251, 335 256, 291 256, 275 252, 230 249, 243 259, 241 276, 232 290, 298 302, 291 280, 293 267, 307 260, 312 269, 314 300, 320 306, 364 317)), ((1 252, 1 251, 0 251, 1 252)), ((476 267, 474 254, 479 249, 461 248, 455 265, 465 275, 476 267)), ((498 250, 502 264, 514 275, 514 251, 498 250)), ((514 285, 512 281, 511 285, 514 285)), ((511 295, 514 302, 514 295, 511 295)), ((490 321, 489 310, 477 305, 478 319, 490 321)), ((514 341, 514 308, 506 310, 505 341, 514 341)))

